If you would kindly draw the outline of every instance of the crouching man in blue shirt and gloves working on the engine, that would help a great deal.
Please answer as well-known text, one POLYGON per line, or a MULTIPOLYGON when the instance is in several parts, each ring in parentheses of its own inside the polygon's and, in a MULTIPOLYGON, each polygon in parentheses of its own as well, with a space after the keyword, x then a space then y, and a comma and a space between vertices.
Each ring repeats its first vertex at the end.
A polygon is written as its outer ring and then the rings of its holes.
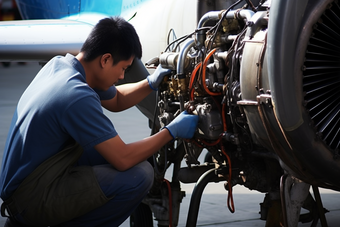
POLYGON ((7 226, 119 226, 145 197, 145 161, 176 137, 191 138, 186 112, 155 135, 125 144, 102 107, 122 111, 157 89, 167 70, 115 87, 142 48, 122 18, 102 19, 77 56, 49 61, 18 102, 0 179, 7 226))

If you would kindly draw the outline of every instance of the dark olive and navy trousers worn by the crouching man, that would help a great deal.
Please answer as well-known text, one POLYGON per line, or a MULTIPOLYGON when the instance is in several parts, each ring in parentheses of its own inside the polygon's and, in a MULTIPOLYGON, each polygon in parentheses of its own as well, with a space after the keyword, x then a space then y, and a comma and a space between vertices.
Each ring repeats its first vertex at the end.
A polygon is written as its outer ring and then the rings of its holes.
POLYGON ((80 158, 79 155, 73 155, 70 158, 69 154, 73 154, 72 152, 64 152, 65 155, 59 155, 58 161, 51 158, 49 162, 42 165, 42 169, 31 174, 34 177, 29 176, 27 181, 25 180, 27 183, 24 181, 23 186, 20 185, 12 196, 13 200, 17 201, 14 206, 11 206, 12 211, 15 210, 13 212, 15 219, 32 226, 112 227, 119 226, 130 216, 153 184, 152 166, 144 161, 121 172, 108 164, 95 150, 83 153, 78 151, 77 153, 81 154, 80 158), (69 162, 70 159, 78 160, 76 166, 73 162, 69 166, 70 163, 63 161, 69 162), (51 163, 56 164, 51 165, 51 163), (59 168, 56 167, 52 173, 58 176, 52 177, 52 179, 50 176, 53 174, 45 174, 53 169, 53 166, 58 165, 59 167, 60 164, 68 166, 63 171, 65 174, 62 174, 61 177, 58 175, 59 168), (36 179, 37 176, 38 179, 36 179), (38 183, 44 181, 48 182, 37 187, 38 183), (73 181, 78 181, 78 183, 73 184, 73 181), (34 187, 30 185, 30 182, 33 182, 34 187), (46 185, 52 185, 52 188, 57 189, 45 189, 46 185), (83 190, 84 188, 88 189, 83 190), (49 194, 49 196, 44 197, 44 194, 49 194), (36 195, 38 195, 38 199, 30 200, 36 195), (67 199, 60 203, 62 200, 59 198, 60 196, 67 199), (99 200, 100 202, 98 202, 99 200), (84 206, 87 206, 86 212, 84 212, 84 206), (60 223, 60 220, 68 221, 60 223))

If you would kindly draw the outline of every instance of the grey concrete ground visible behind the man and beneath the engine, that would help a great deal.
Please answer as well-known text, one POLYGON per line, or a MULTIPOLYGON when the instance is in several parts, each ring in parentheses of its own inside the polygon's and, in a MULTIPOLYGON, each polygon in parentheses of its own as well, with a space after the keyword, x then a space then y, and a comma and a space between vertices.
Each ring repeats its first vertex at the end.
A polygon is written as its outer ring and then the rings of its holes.
MULTIPOLYGON (((4 68, 0 64, 0 158, 3 154, 16 103, 39 69, 40 66, 36 62, 25 65, 12 63, 8 68, 4 68)), ((119 114, 107 114, 120 136, 127 143, 140 140, 150 134, 147 119, 136 108, 119 114), (131 134, 132 130, 133 134, 131 134)), ((194 184, 182 184, 181 187, 186 192, 186 197, 181 204, 178 226, 185 226, 194 184)), ((324 207, 330 211, 326 214, 328 226, 340 226, 340 194, 321 189, 321 197, 324 207)), ((265 222, 260 220, 259 214, 259 203, 263 201, 263 198, 264 194, 249 191, 242 186, 234 187, 236 211, 232 214, 226 206, 227 192, 224 190, 223 182, 211 183, 206 187, 202 196, 197 226, 265 226, 265 222)), ((4 222, 5 219, 0 217, 0 226, 3 226, 4 222)), ((129 220, 126 220, 121 226, 130 226, 129 220)), ((157 226, 156 222, 154 226, 157 226)), ((310 223, 299 224, 299 226, 310 226, 310 223)), ((321 226, 320 223, 317 226, 321 226)))

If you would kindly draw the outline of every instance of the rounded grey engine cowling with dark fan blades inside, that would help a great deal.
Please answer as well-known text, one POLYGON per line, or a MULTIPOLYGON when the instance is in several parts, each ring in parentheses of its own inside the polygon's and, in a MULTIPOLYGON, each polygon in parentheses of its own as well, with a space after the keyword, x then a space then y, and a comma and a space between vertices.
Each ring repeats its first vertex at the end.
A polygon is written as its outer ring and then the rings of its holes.
POLYGON ((273 149, 294 175, 339 190, 337 15, 337 1, 273 1, 267 47, 273 112, 266 113, 273 116, 267 124, 280 128, 271 136, 280 141, 273 149))

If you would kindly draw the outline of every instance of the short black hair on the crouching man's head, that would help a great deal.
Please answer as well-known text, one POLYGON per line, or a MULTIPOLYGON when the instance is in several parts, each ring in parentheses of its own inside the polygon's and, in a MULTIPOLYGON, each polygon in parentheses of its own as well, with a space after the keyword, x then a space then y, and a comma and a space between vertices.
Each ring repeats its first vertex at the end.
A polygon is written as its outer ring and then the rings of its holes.
POLYGON ((81 48, 85 61, 110 53, 114 64, 142 57, 142 45, 134 27, 121 17, 100 20, 81 48))

